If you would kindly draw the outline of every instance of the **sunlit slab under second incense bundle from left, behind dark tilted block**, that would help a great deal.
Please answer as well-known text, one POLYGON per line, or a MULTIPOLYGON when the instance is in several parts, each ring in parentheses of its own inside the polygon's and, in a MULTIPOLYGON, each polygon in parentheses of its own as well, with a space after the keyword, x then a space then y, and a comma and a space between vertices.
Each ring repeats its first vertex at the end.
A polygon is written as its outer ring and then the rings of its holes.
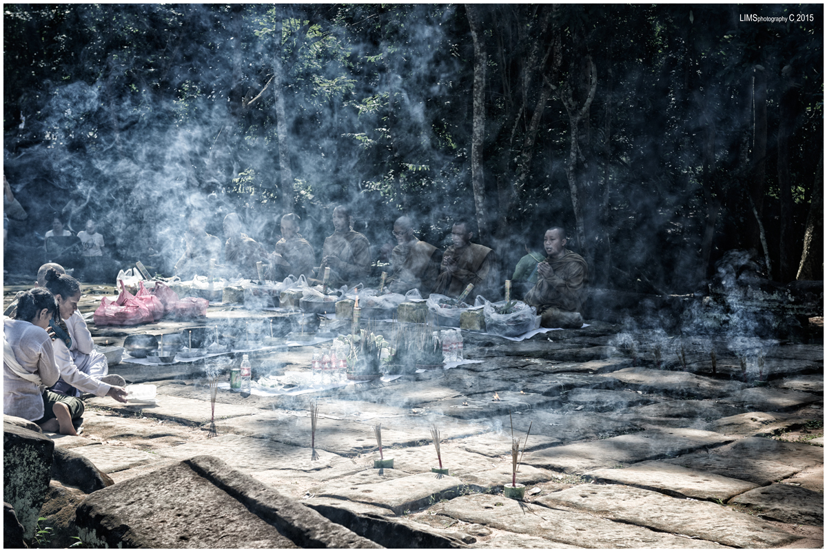
MULTIPOLYGON (((309 441, 308 441, 309 442, 309 441)), ((295 469, 313 472, 330 468, 340 457, 327 450, 316 449, 319 459, 311 460, 309 447, 285 445, 268 439, 256 439, 243 435, 218 435, 213 439, 198 440, 158 450, 158 456, 188 459, 199 454, 209 454, 227 463, 233 469, 253 473, 265 469, 295 469)))

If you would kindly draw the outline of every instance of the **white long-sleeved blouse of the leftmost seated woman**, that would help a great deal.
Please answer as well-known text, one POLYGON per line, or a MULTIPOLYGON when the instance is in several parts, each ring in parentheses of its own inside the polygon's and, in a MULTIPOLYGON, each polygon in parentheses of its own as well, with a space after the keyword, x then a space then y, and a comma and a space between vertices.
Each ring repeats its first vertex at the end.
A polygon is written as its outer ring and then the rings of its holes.
POLYGON ((16 369, 38 376, 43 385, 53 385, 60 372, 55 365, 52 340, 43 328, 11 319, 3 321, 3 338, 11 351, 3 345, 2 412, 28 421, 40 420, 43 417, 40 385, 31 378, 21 377, 16 369))

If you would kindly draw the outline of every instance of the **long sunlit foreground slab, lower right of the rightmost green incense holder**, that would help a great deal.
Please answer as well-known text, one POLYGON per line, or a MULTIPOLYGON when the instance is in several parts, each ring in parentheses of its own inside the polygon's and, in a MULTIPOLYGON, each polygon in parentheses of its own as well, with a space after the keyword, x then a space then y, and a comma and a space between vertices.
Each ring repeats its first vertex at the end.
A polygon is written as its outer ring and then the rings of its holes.
POLYGON ((777 548, 798 539, 713 502, 681 500, 624 485, 578 485, 539 497, 537 502, 736 548, 777 548))

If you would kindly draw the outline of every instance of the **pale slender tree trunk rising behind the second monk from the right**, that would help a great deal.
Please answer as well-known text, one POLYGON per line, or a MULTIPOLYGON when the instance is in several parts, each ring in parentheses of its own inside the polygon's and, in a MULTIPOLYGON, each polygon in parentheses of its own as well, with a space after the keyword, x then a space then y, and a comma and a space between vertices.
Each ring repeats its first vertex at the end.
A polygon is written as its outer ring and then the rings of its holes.
POLYGON ((474 122, 471 131, 471 183, 474 188, 474 207, 480 241, 489 237, 488 217, 485 213, 485 178, 482 170, 482 147, 485 138, 485 45, 476 7, 466 4, 471 39, 474 41, 474 122))

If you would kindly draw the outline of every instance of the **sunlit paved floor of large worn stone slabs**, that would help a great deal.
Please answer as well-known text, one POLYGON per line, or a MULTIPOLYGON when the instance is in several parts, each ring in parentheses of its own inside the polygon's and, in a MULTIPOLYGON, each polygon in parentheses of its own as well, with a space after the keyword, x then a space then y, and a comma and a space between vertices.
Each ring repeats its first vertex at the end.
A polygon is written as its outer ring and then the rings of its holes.
MULTIPOLYGON (((86 289, 81 312, 111 291, 86 289)), ((6 287, 6 302, 14 291, 6 287)), ((215 306, 206 323, 262 316, 274 313, 215 306)), ((53 437, 116 483, 210 454, 325 516, 388 516, 474 548, 823 546, 822 345, 763 342, 768 381, 744 383, 723 339, 674 338, 656 355, 644 333, 588 323, 522 342, 463 332, 466 359, 481 362, 391 382, 275 397, 219 389, 212 438, 203 363, 117 364, 110 372, 128 383, 154 383, 157 403, 89 398, 83 435, 53 437), (378 423, 393 469, 373 469, 378 423), (432 425, 447 476, 430 471, 432 425), (522 502, 503 496, 512 427, 526 449, 522 502)), ((129 333, 186 326, 90 328, 98 343, 117 345, 129 333)), ((253 353, 253 376, 306 372, 315 350, 253 353)), ((219 359, 227 381, 240 359, 219 359)))

